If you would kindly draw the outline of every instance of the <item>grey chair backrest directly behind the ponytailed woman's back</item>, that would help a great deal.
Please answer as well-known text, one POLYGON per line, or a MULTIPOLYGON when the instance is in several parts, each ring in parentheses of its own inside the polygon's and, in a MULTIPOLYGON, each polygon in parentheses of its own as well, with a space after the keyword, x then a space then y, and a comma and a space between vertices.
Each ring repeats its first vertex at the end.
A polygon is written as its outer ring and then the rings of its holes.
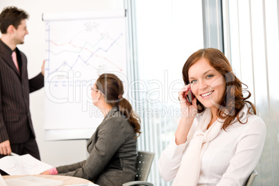
POLYGON ((149 171, 151 169, 151 164, 153 162, 155 153, 147 151, 138 151, 137 152, 137 175, 135 180, 146 181, 149 177, 149 171))

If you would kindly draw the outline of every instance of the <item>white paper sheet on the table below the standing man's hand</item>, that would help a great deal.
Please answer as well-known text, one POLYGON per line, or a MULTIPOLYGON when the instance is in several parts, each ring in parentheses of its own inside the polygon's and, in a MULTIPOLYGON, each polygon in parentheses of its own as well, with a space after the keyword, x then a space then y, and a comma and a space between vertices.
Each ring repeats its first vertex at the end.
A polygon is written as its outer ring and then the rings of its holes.
POLYGON ((40 174, 51 169, 51 165, 37 160, 30 154, 11 156, 0 159, 0 169, 10 176, 40 174))

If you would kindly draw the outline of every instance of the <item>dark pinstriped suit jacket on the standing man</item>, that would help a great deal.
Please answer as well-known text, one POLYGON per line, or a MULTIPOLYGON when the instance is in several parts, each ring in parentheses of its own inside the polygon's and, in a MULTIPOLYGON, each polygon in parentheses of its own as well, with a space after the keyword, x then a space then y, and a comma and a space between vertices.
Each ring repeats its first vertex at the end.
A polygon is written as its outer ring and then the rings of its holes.
POLYGON ((26 56, 16 48, 19 72, 10 52, 0 40, 0 142, 19 144, 35 138, 29 93, 44 86, 44 76, 40 73, 28 80, 26 56))

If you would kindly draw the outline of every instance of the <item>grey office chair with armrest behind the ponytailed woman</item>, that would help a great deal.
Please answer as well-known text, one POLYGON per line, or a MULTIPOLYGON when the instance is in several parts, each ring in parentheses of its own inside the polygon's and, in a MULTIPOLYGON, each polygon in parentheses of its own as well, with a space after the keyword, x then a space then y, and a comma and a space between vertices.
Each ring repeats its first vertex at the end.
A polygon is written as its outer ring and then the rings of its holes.
POLYGON ((138 151, 137 152, 137 175, 135 176, 135 181, 124 183, 122 186, 130 185, 146 185, 153 186, 152 183, 146 182, 149 177, 149 171, 151 169, 151 164, 153 162, 155 153, 147 151, 138 151))

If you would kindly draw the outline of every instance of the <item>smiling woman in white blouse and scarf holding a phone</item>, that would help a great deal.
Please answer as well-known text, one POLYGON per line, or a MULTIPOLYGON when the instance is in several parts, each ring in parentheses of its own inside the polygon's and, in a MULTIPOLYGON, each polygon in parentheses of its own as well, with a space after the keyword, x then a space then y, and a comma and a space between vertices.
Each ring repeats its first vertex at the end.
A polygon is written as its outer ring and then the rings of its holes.
POLYGON ((244 185, 267 133, 247 100, 251 93, 217 49, 193 53, 183 67, 183 81, 181 119, 175 139, 160 156, 160 175, 179 186, 244 185))

